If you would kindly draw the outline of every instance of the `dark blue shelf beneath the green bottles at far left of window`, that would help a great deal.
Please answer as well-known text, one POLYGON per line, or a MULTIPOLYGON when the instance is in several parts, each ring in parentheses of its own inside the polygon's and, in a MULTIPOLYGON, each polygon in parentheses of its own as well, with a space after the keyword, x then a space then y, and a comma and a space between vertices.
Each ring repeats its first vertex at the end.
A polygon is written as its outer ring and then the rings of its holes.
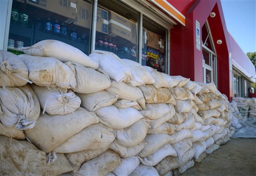
POLYGON ((19 23, 12 23, 12 22, 10 22, 9 33, 14 33, 16 35, 25 36, 28 38, 32 38, 34 35, 34 31, 31 25, 28 24, 28 27, 26 27, 26 26, 22 26, 19 23))

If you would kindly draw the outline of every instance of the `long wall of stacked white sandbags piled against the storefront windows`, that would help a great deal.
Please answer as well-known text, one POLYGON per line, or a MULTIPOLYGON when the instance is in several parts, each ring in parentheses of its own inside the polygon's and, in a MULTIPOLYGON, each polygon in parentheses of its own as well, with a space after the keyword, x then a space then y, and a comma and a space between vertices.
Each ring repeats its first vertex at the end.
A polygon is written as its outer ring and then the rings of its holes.
POLYGON ((0 51, 3 175, 179 174, 229 140, 212 83, 56 40, 23 51, 0 51))

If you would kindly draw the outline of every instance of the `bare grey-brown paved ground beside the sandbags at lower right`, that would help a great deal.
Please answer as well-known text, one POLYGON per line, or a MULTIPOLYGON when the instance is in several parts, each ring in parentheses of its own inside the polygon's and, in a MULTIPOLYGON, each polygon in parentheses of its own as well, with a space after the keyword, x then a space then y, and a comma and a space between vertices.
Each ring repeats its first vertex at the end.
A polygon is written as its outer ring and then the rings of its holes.
POLYGON ((182 176, 256 176, 256 138, 231 138, 182 176))

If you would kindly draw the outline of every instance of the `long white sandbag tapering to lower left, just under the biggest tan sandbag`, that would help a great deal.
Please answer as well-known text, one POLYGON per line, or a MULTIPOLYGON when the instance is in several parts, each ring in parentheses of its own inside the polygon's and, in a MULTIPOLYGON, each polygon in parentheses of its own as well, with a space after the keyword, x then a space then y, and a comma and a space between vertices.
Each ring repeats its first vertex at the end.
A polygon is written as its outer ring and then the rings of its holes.
POLYGON ((104 148, 114 140, 113 129, 101 123, 91 124, 53 150, 56 153, 72 153, 82 150, 97 150, 104 148))

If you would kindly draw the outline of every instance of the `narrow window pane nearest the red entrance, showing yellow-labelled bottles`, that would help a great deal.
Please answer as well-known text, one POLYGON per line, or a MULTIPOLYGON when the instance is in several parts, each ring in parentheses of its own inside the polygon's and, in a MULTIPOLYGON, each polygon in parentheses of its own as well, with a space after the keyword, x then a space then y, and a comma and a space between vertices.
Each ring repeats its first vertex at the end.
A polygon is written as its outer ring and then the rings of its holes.
POLYGON ((149 18, 142 18, 142 53, 141 64, 157 69, 160 72, 166 71, 165 38, 167 30, 153 22, 149 18))

